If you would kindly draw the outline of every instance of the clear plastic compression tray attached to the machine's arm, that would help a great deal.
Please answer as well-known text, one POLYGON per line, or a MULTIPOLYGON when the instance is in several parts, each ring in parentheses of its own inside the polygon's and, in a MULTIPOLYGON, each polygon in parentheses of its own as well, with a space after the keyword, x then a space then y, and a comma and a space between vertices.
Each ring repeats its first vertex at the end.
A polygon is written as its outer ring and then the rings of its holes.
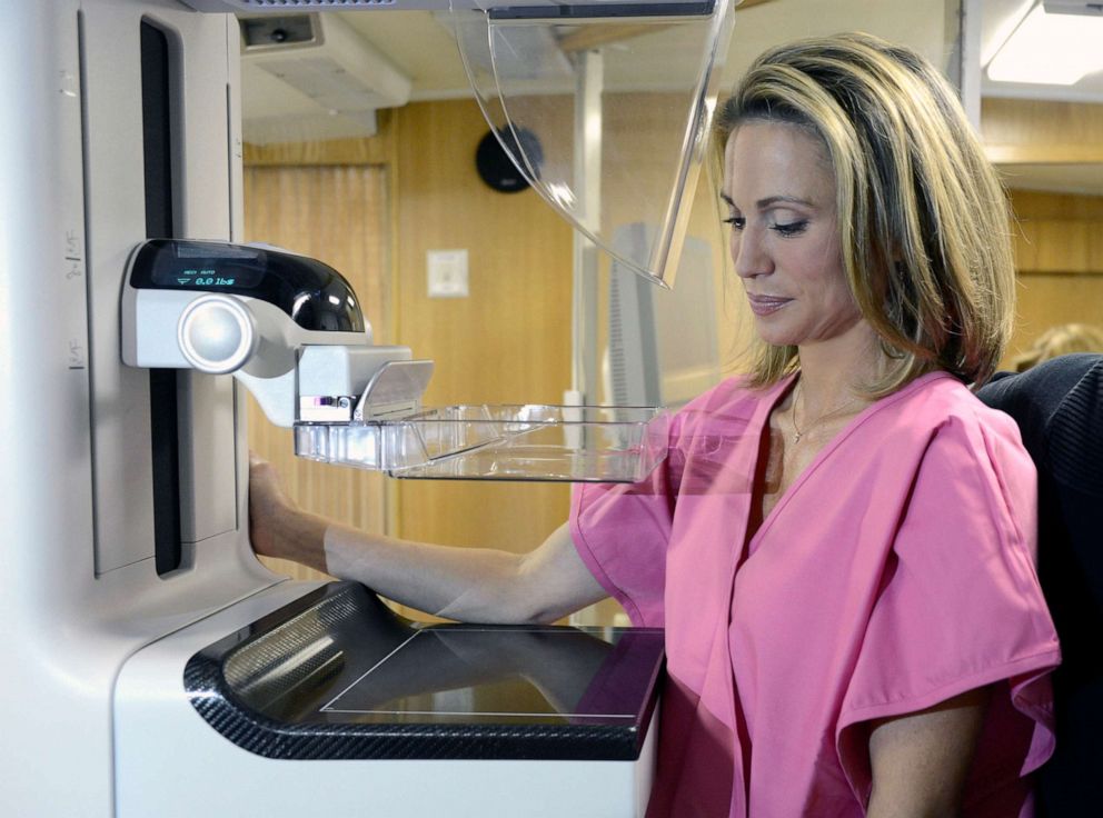
POLYGON ((438 480, 637 482, 666 457, 652 407, 450 406, 392 420, 295 425, 295 453, 438 480))

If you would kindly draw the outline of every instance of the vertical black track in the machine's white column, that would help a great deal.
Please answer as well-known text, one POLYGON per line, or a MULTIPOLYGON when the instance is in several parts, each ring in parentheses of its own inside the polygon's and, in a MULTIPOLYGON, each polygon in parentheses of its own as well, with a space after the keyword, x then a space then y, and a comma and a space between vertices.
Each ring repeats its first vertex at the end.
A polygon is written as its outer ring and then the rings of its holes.
MULTIPOLYGON (((146 169, 146 238, 175 238, 172 212, 172 62, 168 37, 141 23, 142 153, 146 169)), ((180 567, 180 439, 177 370, 149 372, 153 455, 153 537, 158 575, 180 567)))

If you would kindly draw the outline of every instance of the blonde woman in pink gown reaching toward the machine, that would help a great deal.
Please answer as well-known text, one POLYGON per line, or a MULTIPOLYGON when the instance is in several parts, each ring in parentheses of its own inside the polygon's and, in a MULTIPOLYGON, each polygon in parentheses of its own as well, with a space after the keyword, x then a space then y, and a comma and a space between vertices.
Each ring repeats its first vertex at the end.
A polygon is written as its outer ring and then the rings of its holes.
POLYGON ((654 816, 1031 814, 1059 651, 1034 470, 964 386, 1013 308, 1007 209, 952 90, 871 37, 761 57, 719 117, 752 372, 643 483, 529 555, 330 526, 252 481, 255 547, 466 620, 616 597, 666 628, 654 816))

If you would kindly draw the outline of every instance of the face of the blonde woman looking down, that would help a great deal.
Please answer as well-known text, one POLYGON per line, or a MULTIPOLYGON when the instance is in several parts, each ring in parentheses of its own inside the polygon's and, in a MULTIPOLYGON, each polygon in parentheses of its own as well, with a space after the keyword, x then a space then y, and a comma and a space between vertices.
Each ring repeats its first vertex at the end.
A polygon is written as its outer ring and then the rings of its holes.
POLYGON ((862 316, 819 141, 794 124, 746 122, 728 139, 724 170, 732 259, 762 339, 807 347, 854 329, 862 316))

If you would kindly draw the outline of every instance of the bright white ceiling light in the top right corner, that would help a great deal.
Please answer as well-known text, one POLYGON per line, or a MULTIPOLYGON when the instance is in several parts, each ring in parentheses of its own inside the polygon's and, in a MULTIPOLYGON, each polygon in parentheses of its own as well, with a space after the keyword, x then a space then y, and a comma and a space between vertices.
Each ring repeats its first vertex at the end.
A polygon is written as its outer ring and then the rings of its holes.
POLYGON ((988 63, 995 82, 1072 86, 1103 71, 1103 17, 1051 14, 1039 3, 988 63))

